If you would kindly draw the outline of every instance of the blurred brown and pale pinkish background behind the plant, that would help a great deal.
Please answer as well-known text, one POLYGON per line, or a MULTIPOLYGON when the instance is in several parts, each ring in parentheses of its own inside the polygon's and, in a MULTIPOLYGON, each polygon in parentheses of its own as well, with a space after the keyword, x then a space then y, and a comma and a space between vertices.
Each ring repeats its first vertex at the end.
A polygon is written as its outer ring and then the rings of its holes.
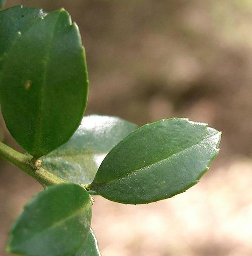
MULTIPOLYGON (((217 160, 186 193, 139 206, 95 198, 102 255, 252 255, 252 2, 9 0, 6 7, 18 4, 64 7, 79 24, 90 78, 86 113, 139 125, 188 117, 223 131, 217 160)), ((6 130, 4 141, 19 148, 6 130)), ((42 188, 2 160, 0 183, 6 255, 11 223, 42 188)))

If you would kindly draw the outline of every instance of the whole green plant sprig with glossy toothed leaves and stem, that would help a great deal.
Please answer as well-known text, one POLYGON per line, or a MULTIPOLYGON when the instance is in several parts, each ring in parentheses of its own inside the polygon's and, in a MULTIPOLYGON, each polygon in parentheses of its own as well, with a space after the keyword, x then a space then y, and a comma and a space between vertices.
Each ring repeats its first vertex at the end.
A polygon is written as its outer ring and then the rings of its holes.
POLYGON ((0 11, 1 108, 26 151, 1 142, 0 156, 44 187, 13 224, 9 252, 100 255, 92 194, 125 204, 173 197, 198 183, 218 154, 221 133, 205 123, 170 118, 138 128, 118 117, 83 117, 88 85, 80 32, 67 11, 0 11))

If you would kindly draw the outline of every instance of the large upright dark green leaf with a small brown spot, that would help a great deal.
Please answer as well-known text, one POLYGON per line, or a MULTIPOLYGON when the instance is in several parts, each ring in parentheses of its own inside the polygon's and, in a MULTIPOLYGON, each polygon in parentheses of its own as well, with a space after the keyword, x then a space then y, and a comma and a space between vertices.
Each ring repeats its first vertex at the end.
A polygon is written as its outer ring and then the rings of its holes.
MULTIPOLYGON (((3 26, 6 22, 1 19, 3 26)), ((16 33, 1 60, 1 105, 9 131, 29 154, 46 155, 71 138, 86 108, 87 92, 80 33, 65 10, 16 33)))

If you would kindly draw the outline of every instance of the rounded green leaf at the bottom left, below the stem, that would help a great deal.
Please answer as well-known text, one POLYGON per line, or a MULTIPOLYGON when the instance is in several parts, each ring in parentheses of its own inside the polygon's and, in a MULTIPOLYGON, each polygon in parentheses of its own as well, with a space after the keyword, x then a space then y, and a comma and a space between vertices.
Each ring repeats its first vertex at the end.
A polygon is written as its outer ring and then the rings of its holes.
POLYGON ((9 252, 29 256, 67 256, 89 235, 89 194, 76 184, 60 184, 37 194, 13 225, 9 252))

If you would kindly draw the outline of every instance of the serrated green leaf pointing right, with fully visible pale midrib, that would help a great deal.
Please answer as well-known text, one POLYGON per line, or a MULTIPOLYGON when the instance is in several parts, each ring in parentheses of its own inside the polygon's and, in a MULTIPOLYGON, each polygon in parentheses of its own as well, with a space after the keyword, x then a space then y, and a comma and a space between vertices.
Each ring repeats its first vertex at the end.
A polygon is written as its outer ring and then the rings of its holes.
POLYGON ((199 181, 219 152, 220 137, 185 118, 144 125, 108 153, 89 187, 120 203, 172 197, 199 181))

